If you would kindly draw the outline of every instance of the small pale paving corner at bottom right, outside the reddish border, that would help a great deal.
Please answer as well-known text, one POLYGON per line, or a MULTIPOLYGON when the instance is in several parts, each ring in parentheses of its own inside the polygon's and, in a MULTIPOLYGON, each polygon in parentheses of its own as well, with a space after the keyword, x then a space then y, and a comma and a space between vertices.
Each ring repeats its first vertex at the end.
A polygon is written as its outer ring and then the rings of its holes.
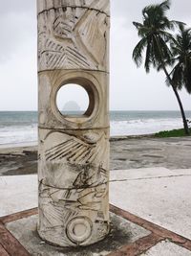
POLYGON ((147 252, 142 253, 140 256, 191 256, 191 251, 180 247, 177 244, 170 243, 169 241, 162 241, 156 244, 147 252))

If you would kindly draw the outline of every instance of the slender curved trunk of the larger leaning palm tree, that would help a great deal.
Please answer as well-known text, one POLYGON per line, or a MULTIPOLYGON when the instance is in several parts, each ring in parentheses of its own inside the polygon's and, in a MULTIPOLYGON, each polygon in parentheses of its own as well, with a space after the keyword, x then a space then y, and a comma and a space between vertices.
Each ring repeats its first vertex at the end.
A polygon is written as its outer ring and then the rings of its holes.
POLYGON ((175 96, 176 96, 177 101, 178 101, 179 106, 180 106, 180 113, 181 113, 181 118, 182 118, 182 122, 183 122, 183 128, 184 128, 184 131, 185 131, 185 135, 190 135, 190 131, 189 131, 189 128, 188 128, 188 123, 187 123, 187 120, 186 120, 186 117, 185 117, 185 111, 183 109, 183 105, 181 104, 180 95, 177 91, 176 86, 173 84, 173 81, 172 81, 168 71, 166 70, 165 63, 164 63, 163 58, 162 58, 162 53, 161 53, 161 50, 160 50, 160 47, 159 47, 158 38, 156 38, 156 41, 157 41, 159 52, 160 52, 160 57, 161 57, 160 61, 161 61, 162 69, 163 69, 163 71, 166 75, 166 78, 168 79, 169 83, 171 84, 171 87, 172 87, 172 89, 175 93, 175 96))

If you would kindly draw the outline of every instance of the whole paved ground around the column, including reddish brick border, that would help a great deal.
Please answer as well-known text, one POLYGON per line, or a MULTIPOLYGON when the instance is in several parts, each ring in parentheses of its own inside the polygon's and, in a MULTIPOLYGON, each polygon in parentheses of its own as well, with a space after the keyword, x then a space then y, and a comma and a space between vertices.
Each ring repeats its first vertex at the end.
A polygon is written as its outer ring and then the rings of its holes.
POLYGON ((2 176, 0 255, 191 255, 190 184, 191 169, 112 171, 112 235, 93 247, 71 251, 39 239, 36 209, 14 214, 37 207, 37 175, 2 176))

